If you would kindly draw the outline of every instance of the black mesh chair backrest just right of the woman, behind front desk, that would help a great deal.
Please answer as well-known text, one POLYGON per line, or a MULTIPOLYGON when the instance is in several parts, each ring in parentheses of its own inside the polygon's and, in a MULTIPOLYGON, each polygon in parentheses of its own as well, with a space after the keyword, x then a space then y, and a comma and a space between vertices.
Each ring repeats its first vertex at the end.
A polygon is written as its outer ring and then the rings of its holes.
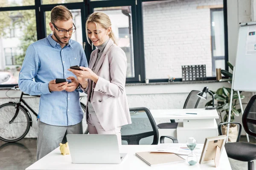
POLYGON ((157 124, 148 108, 130 108, 131 124, 121 128, 122 144, 158 144, 157 124))

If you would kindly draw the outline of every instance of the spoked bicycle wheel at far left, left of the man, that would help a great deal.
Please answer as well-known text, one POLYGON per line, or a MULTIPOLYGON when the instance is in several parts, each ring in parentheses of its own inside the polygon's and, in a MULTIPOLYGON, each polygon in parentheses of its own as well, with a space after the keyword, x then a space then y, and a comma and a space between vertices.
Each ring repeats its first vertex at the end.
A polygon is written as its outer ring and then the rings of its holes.
POLYGON ((9 123, 15 116, 15 103, 0 105, 0 139, 5 142, 17 142, 29 132, 29 115, 19 106, 17 117, 9 123))

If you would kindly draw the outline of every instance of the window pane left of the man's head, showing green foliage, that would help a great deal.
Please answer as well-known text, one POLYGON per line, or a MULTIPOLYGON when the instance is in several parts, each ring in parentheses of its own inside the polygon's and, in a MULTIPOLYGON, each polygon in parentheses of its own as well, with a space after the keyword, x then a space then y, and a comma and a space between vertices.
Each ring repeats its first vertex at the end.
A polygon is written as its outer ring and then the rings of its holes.
POLYGON ((37 41, 35 10, 0 11, 0 16, 4 16, 4 23, 0 20, 0 30, 3 30, 0 33, 1 84, 17 84, 25 51, 37 41), (3 82, 7 76, 8 81, 3 82))

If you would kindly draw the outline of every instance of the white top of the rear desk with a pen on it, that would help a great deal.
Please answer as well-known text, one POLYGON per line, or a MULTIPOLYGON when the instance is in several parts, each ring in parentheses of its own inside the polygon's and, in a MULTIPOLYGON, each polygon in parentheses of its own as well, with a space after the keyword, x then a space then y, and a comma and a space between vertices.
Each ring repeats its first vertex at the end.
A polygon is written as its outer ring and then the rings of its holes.
POLYGON ((217 110, 203 109, 163 109, 150 110, 154 119, 218 119, 217 110), (186 114, 197 113, 197 114, 186 114))

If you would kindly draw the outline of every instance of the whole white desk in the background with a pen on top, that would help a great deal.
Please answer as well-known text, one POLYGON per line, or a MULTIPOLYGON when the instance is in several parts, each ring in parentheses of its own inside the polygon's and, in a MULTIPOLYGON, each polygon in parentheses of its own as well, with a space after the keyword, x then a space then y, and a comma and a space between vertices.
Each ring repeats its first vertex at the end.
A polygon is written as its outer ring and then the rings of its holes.
POLYGON ((159 129, 160 136, 177 137, 179 143, 186 143, 186 139, 194 137, 203 144, 206 137, 218 136, 217 110, 205 109, 166 109, 150 110, 154 119, 179 119, 176 129, 159 129), (197 113, 197 114, 186 114, 197 113))

